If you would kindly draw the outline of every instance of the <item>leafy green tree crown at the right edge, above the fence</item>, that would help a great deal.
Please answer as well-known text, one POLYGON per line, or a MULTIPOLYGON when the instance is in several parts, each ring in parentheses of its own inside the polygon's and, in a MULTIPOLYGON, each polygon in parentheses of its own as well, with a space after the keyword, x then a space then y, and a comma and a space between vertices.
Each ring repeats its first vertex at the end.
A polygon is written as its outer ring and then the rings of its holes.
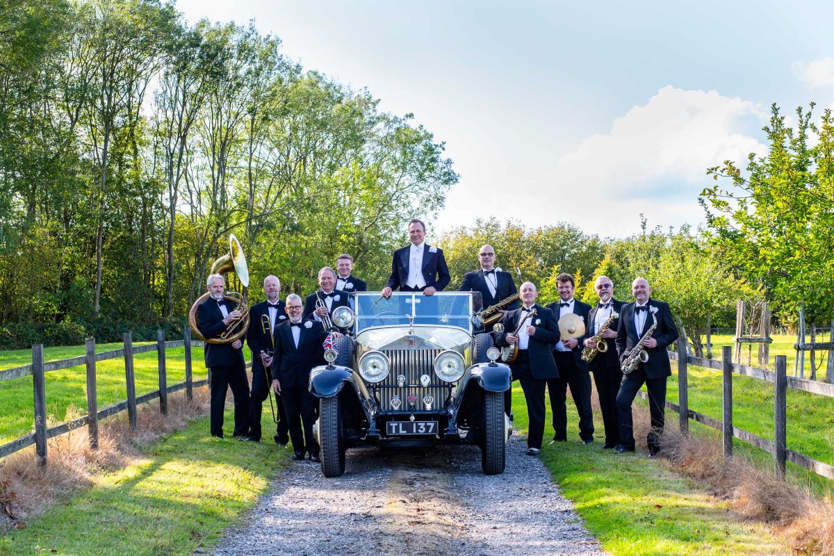
POLYGON ((796 128, 773 105, 764 128, 768 153, 751 153, 746 172, 732 161, 710 168, 716 181, 701 192, 709 238, 739 273, 764 288, 772 309, 795 318, 834 318, 834 119, 814 105, 796 110, 796 128))

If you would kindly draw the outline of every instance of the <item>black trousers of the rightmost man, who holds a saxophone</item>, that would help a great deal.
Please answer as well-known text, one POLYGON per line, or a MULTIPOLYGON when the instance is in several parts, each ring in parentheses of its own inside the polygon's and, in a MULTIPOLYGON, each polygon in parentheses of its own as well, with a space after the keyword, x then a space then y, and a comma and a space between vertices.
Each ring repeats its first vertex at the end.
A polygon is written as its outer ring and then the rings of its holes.
POLYGON ((623 375, 620 393, 617 394, 617 411, 620 415, 620 444, 634 449, 634 421, 631 417, 631 402, 640 387, 646 383, 649 392, 649 413, 651 413, 651 430, 646 436, 649 451, 661 449, 660 437, 666 422, 666 377, 648 378, 642 368, 634 373, 623 375))

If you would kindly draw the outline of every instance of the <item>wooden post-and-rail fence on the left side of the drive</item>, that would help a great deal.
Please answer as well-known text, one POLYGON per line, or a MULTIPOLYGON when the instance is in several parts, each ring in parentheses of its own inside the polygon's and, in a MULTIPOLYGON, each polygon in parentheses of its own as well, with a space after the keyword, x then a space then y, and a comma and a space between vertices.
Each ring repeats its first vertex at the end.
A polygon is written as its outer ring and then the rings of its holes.
MULTIPOLYGON (((34 423, 35 432, 27 434, 21 438, 16 438, 12 442, 0 446, 0 458, 4 458, 11 453, 18 452, 23 448, 35 445, 35 452, 37 453, 38 463, 46 465, 47 463, 47 440, 59 434, 68 433, 77 428, 86 426, 88 428, 88 436, 90 448, 98 448, 98 420, 110 417, 116 413, 123 411, 128 412, 128 420, 130 428, 135 431, 137 429, 137 406, 141 403, 148 403, 153 399, 159 398, 159 411, 161 413, 168 413, 168 394, 185 390, 188 399, 193 398, 193 388, 199 388, 208 384, 208 378, 194 382, 191 375, 191 348, 192 346, 203 347, 205 343, 198 340, 191 339, 191 331, 186 329, 182 340, 173 342, 165 341, 165 333, 163 330, 158 331, 157 342, 144 346, 133 346, 132 334, 124 333, 124 347, 121 349, 114 349, 113 351, 96 353, 96 343, 94 338, 88 338, 85 345, 85 354, 81 357, 62 359, 60 361, 43 362, 43 345, 38 344, 32 346, 32 363, 22 365, 20 367, 8 368, 0 371, 0 381, 11 380, 13 378, 22 378, 28 375, 33 377, 33 395, 34 395, 34 423), (168 386, 167 374, 165 372, 165 350, 170 348, 185 347, 185 381, 178 384, 168 386), (153 392, 145 393, 141 396, 136 395, 136 384, 133 373, 133 355, 135 353, 158 352, 158 377, 159 388, 153 392), (124 377, 127 386, 128 399, 122 402, 114 403, 106 408, 98 409, 96 401, 96 363, 106 359, 124 358, 124 377), (47 411, 46 411, 46 395, 45 395, 45 373, 48 371, 55 371, 62 368, 71 368, 84 365, 87 368, 87 414, 83 417, 73 419, 68 423, 61 423, 54 427, 47 428, 47 411)), ((249 366, 248 363, 247 366, 249 366)))

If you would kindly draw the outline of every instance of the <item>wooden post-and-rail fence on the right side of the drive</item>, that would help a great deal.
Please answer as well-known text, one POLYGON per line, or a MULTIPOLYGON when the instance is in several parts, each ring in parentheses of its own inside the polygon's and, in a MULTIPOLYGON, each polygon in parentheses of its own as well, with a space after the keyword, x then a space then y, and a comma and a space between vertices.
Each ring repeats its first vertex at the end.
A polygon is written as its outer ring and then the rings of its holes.
MULTIPOLYGON (((666 408, 680 415, 681 432, 688 433, 689 419, 704 424, 707 427, 715 428, 722 433, 722 446, 726 458, 732 457, 732 439, 738 438, 742 442, 751 444, 773 455, 773 466, 776 475, 785 476, 786 462, 806 468, 821 477, 834 480, 834 466, 828 463, 817 461, 814 458, 795 452, 786 448, 786 393, 788 388, 801 390, 803 392, 815 393, 821 396, 834 398, 834 384, 816 383, 804 378, 787 376, 787 358, 784 355, 776 356, 776 371, 768 371, 763 368, 750 367, 732 363, 732 348, 722 348, 721 361, 714 359, 697 358, 686 355, 686 343, 679 339, 677 352, 670 352, 670 358, 678 361, 678 401, 680 403, 666 402, 666 408), (687 364, 697 367, 714 368, 722 372, 722 396, 721 408, 722 420, 711 418, 703 413, 698 413, 689 408, 687 364), (744 374, 752 378, 758 378, 774 385, 774 418, 773 418, 773 440, 761 438, 732 424, 732 374, 744 374)), ((645 392, 640 392, 641 398, 648 399, 645 392)))

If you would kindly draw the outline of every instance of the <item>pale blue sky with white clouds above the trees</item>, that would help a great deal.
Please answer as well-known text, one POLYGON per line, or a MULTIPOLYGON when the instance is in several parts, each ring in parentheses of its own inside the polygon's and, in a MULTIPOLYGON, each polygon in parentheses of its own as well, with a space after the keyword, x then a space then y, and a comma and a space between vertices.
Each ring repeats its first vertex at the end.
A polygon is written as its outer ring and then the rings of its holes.
POLYGON ((639 213, 696 225, 706 168, 763 152, 771 103, 834 104, 834 3, 177 7, 254 19, 305 68, 414 113, 460 173, 430 234, 490 216, 611 237, 635 233, 639 213))

